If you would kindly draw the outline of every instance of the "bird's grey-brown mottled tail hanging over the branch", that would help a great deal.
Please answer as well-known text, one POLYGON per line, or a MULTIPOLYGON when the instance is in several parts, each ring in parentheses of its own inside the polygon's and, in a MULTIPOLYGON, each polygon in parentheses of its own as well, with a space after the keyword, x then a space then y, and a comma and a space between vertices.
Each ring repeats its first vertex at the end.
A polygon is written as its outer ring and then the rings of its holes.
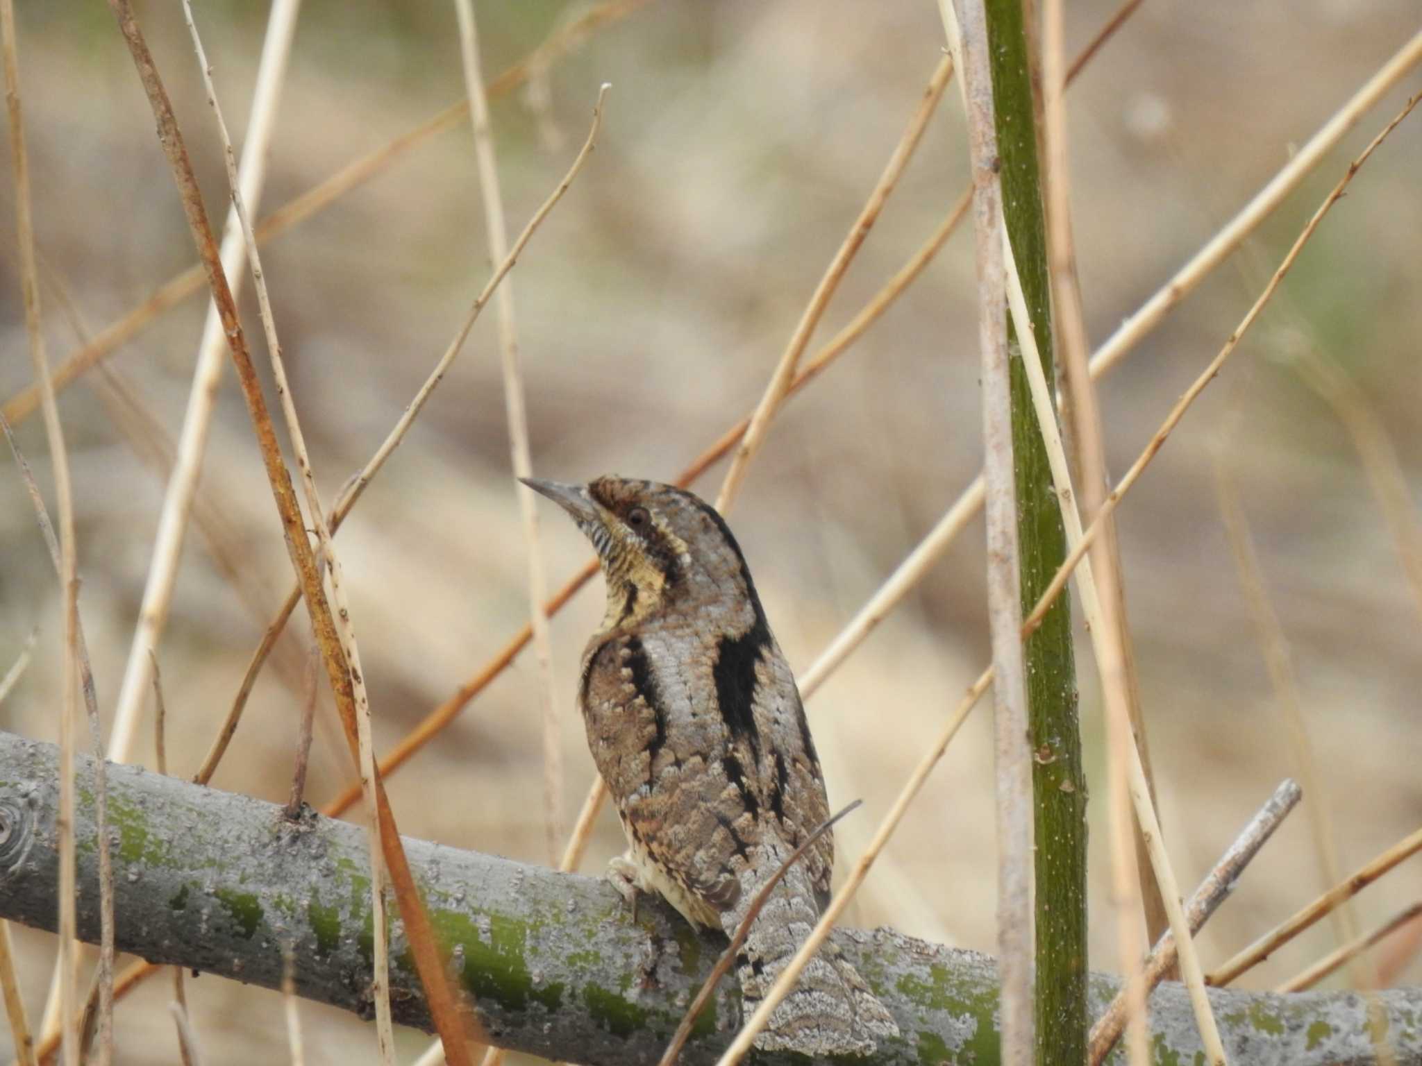
MULTIPOLYGON (((749 910, 749 898, 722 915, 722 928, 734 935, 749 910)), ((791 870, 776 885, 737 957, 741 999, 749 1018, 799 945, 819 920, 809 878, 791 870)), ((875 1040, 899 1035, 899 1026, 865 979, 830 941, 825 941, 801 972, 793 991, 771 1013, 755 1039, 762 1050, 802 1055, 870 1055, 875 1040)))

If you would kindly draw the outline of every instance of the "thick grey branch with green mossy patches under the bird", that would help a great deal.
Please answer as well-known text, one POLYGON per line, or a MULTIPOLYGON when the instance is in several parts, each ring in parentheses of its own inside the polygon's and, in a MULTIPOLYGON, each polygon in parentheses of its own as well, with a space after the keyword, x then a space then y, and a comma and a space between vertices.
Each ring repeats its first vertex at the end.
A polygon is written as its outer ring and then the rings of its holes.
MULTIPOLYGON (((55 922, 55 749, 0 733, 0 917, 55 922)), ((80 769, 80 931, 98 937, 91 763, 80 769)), ((156 962, 276 988, 282 945, 296 955, 303 996, 367 1012, 370 888, 363 830, 131 766, 109 769, 117 940, 156 962)), ((503 1046, 593 1066, 653 1063, 724 947, 673 911, 643 905, 633 922, 600 880, 408 840, 431 920, 465 989, 503 1046)), ((896 932, 840 931, 839 945, 893 1011, 903 1038, 884 1066, 997 1062, 993 959, 896 932)), ((402 931, 391 941, 397 1021, 429 1028, 402 931)), ((1099 1013, 1115 982, 1092 984, 1099 1013)), ((1263 1066, 1372 1062, 1364 1001, 1351 994, 1216 991, 1230 1060, 1263 1066)), ((1422 1063, 1422 991, 1382 992, 1402 1063, 1422 1063)), ((1194 1060, 1199 1042, 1179 985, 1150 1001, 1160 1063, 1194 1060)), ((710 1063, 741 1018, 722 988, 687 1045, 710 1063)), ((791 1062, 796 1056, 757 1056, 791 1062)), ((803 1062, 803 1059, 799 1059, 803 1062)))

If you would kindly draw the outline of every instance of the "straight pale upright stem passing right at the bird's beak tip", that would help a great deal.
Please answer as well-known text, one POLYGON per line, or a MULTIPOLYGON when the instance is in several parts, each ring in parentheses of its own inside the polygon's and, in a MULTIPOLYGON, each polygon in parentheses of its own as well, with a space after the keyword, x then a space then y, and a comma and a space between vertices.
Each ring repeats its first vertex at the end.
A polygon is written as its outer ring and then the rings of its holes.
MULTIPOLYGON (((469 119, 474 128, 474 155, 479 171, 479 198, 483 202, 483 222, 489 244, 489 266, 509 254, 509 235, 503 219, 503 195, 499 190, 499 168, 489 128, 489 101, 479 72, 478 24, 472 0, 454 0, 459 21, 459 51, 464 58, 465 91, 469 97, 469 119)), ((597 111, 607 92, 604 84, 597 94, 597 111)), ((529 452, 528 408, 523 372, 519 367, 518 327, 513 314, 513 284, 505 281, 495 296, 499 324, 499 362, 503 378, 503 405, 509 421, 509 453, 513 465, 513 495, 519 500, 523 520, 523 542, 528 553, 529 617, 533 624, 533 655, 538 661, 539 719, 543 739, 543 836, 549 861, 557 857, 563 837, 563 745, 557 712, 553 706, 553 644, 547 632, 547 573, 539 547, 539 516, 533 490, 523 478, 533 476, 529 452)))

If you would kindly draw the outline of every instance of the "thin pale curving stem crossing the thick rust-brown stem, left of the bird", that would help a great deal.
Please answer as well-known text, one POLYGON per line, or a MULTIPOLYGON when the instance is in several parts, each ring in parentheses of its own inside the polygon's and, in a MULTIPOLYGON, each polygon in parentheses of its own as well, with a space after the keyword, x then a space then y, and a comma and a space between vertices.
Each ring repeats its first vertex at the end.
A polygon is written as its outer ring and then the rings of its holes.
MULTIPOLYGON (((257 296, 257 310, 262 328, 266 334, 267 354, 272 360, 272 375, 276 384, 277 397, 282 401, 282 414, 286 419, 287 436, 292 441, 292 455, 301 473, 301 492, 306 497, 306 509, 320 550, 316 566, 324 561, 330 583, 331 603, 336 608, 334 621, 340 634, 341 650, 344 651, 344 665, 348 671, 351 699, 356 711, 356 736, 360 752, 360 776, 365 795, 365 806, 370 814, 370 881, 371 881, 371 930, 373 930, 373 965, 371 965, 371 999, 375 1005, 375 1036, 380 1046, 381 1062, 391 1066, 395 1060, 395 1030, 390 1011, 390 927, 385 920, 385 887, 388 873, 381 858, 383 843, 378 803, 375 800, 375 753, 370 735, 370 694, 365 689, 365 671, 361 667, 360 645, 356 641, 354 621, 351 620, 350 601, 346 596, 346 574, 336 546, 331 543, 331 532, 326 522, 326 512, 321 507, 321 496, 316 488, 316 472, 311 468, 311 456, 306 446, 306 435, 301 432, 301 422, 296 414, 296 401, 292 397, 292 387, 287 381, 286 365, 282 358, 282 344, 276 333, 276 320, 272 314, 272 297, 267 290, 266 276, 262 270, 262 257, 257 252, 256 235, 252 232, 252 220, 247 215, 246 200, 242 192, 242 179, 237 175, 236 156, 232 151, 232 138, 228 134, 228 124, 222 117, 222 107, 218 104, 218 90, 212 82, 212 65, 202 47, 198 26, 192 17, 191 0, 182 0, 183 18, 188 23, 188 33, 192 36, 192 47, 198 54, 198 65, 202 72, 203 88, 208 94, 208 105, 212 108, 218 136, 222 142, 222 158, 228 171, 228 186, 232 195, 232 208, 237 216, 239 232, 246 243, 246 259, 252 267, 252 281, 257 296)), ((407 901, 414 908, 421 907, 419 898, 407 901)))

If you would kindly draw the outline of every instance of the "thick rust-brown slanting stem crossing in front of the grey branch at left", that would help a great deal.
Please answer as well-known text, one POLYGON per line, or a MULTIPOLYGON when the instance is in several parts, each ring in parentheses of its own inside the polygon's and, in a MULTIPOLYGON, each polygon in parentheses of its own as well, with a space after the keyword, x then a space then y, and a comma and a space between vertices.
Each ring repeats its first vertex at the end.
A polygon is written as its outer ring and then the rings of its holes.
MULTIPOLYGON (((326 600, 326 591, 321 587, 321 577, 316 567, 314 553, 306 539, 306 529, 301 520, 300 507, 296 502, 296 493, 292 486, 292 476, 286 469, 284 461, 282 459, 280 448, 276 441, 276 431, 272 425, 272 418, 267 414, 266 399, 262 395, 262 388, 256 378, 256 368, 253 367, 250 352, 247 351, 246 337, 242 331, 240 323, 237 321, 236 306, 232 300, 232 290, 228 287, 228 280, 222 273, 222 263, 218 259, 216 242, 213 240, 212 227, 208 222, 208 213, 202 203, 202 195, 192 173, 192 163, 188 159, 188 151, 183 145, 182 134, 179 132, 178 124, 173 118, 172 105, 168 101, 168 92, 164 88, 162 80, 154 65, 144 34, 134 20, 131 0, 109 0, 109 7, 118 20, 125 44, 134 57, 134 65, 138 71, 139 81, 144 84, 144 91, 148 95, 149 105, 152 107, 154 118, 158 122, 159 144, 162 145, 164 154, 172 169, 173 182, 178 186, 179 198, 182 200, 183 215, 192 232, 193 242, 198 246, 198 253, 203 260, 209 289, 212 290, 218 308, 222 313, 228 347, 232 351, 232 358, 237 368, 237 379, 242 384, 243 399, 247 405, 247 412, 252 416, 253 431, 256 432, 259 449, 262 452, 263 468, 272 488, 273 500, 282 517, 287 551, 292 557, 293 569, 296 569, 301 577, 301 586, 306 594, 313 631, 326 661, 331 689, 336 692, 336 706, 341 714, 347 742, 350 743, 353 756, 358 759, 360 726, 356 721, 357 714, 346 657, 336 631, 336 623, 331 617, 330 604, 326 600)), ((414 878, 411 877, 404 846, 400 841, 400 834, 394 824, 394 814, 390 812, 390 802, 384 795, 384 787, 378 775, 375 777, 374 787, 380 809, 378 836, 383 847, 387 850, 385 861, 394 881, 395 895, 401 903, 401 911, 405 920, 405 932, 415 957, 419 981, 425 988, 427 996, 429 998, 429 1011, 441 1036, 447 1040, 447 1045, 454 1043, 456 1038, 462 1039, 458 1003, 449 989, 448 976, 439 958, 428 915, 419 904, 419 894, 414 884, 414 878)), ((472 1015, 469 1015, 468 1023, 471 1028, 478 1028, 478 1022, 472 1015)))

